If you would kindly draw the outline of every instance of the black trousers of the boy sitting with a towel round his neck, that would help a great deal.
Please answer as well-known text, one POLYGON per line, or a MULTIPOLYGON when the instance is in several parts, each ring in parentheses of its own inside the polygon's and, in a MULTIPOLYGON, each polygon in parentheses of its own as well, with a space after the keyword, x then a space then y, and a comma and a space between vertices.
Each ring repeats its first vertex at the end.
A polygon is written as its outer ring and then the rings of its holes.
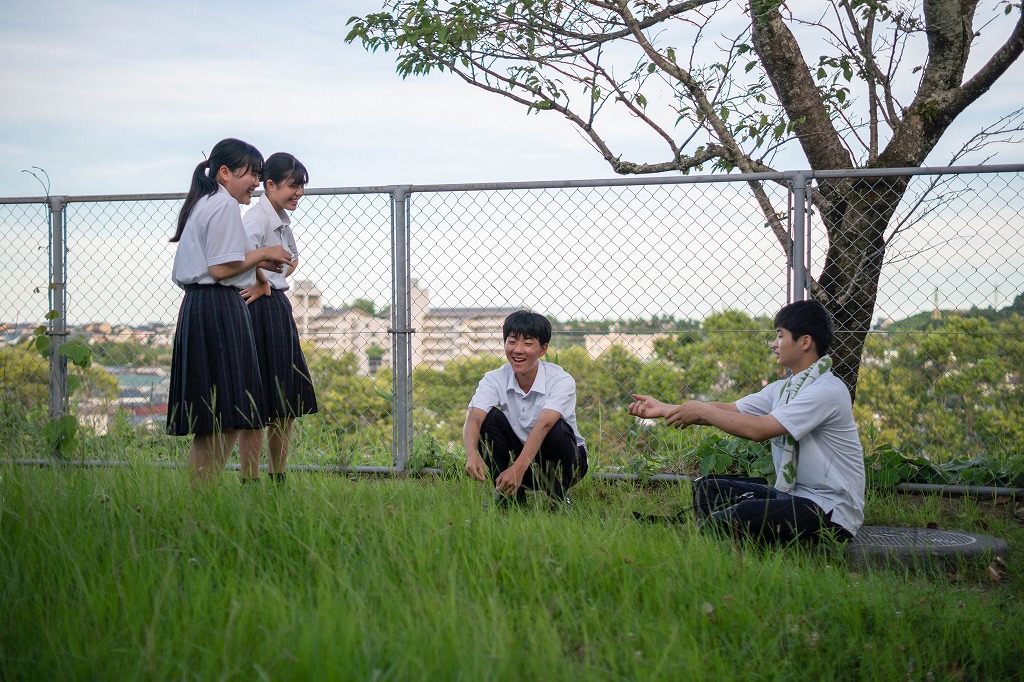
POLYGON ((698 478, 693 481, 693 507, 701 525, 765 543, 813 543, 826 530, 839 540, 853 537, 814 502, 751 479, 698 478))

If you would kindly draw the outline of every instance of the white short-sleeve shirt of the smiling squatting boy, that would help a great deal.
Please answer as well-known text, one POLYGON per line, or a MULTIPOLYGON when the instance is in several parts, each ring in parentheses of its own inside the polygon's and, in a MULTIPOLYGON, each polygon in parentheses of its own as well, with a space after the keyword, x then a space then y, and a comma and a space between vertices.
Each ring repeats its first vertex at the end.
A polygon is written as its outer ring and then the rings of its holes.
POLYGON ((483 412, 500 409, 523 442, 537 425, 541 411, 554 410, 572 427, 577 446, 584 443, 575 422, 575 380, 553 363, 541 360, 528 393, 520 388, 511 365, 487 372, 480 379, 469 407, 483 412))

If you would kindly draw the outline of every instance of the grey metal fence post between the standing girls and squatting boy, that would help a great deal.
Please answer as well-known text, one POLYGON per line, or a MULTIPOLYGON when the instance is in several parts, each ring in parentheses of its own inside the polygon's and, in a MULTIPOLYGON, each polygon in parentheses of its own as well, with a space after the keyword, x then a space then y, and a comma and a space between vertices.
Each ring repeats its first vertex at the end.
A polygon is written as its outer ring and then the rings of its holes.
POLYGON ((394 467, 406 470, 413 450, 413 344, 409 187, 391 194, 391 356, 394 371, 394 467))

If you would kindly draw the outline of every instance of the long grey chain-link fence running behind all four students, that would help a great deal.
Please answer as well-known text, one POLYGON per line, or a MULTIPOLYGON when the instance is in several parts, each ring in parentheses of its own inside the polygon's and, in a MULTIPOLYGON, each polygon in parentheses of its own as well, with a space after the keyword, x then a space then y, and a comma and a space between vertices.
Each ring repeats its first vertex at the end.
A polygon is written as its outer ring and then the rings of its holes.
MULTIPOLYGON (((529 307, 553 321, 548 359, 577 378, 596 468, 686 469, 707 430, 638 424, 631 393, 732 400, 760 388, 778 372, 772 315, 808 295, 836 312, 838 372, 856 377, 865 444, 1018 455, 1024 167, 961 170, 307 191, 290 296, 321 412, 299 421, 291 461, 457 461, 466 404, 503 361, 501 323, 529 307)), ((38 429, 17 425, 45 421, 37 406, 65 382, 25 339, 57 309, 49 338, 80 339, 92 366, 49 404, 76 415, 94 455, 129 438, 174 457, 160 432, 181 197, 49 201, 52 216, 43 200, 0 200, 14 256, 0 382, 18 406, 5 408, 3 437, 41 447, 38 429)))

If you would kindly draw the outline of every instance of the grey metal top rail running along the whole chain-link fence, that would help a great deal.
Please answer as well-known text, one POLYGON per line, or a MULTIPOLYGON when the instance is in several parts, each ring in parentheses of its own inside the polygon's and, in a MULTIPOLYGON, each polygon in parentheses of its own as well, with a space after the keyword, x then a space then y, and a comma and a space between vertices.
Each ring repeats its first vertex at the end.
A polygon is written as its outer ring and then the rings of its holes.
MULTIPOLYGON (((810 179, 893 177, 900 175, 977 175, 983 173, 1024 173, 1024 164, 994 164, 991 166, 940 166, 918 168, 843 168, 836 170, 788 170, 773 173, 723 173, 720 175, 671 175, 594 178, 583 180, 531 180, 521 182, 468 182, 456 184, 388 184, 352 187, 310 187, 309 196, 333 195, 391 195, 404 196, 416 193, 441 191, 508 191, 517 189, 571 189, 579 187, 618 187, 633 185, 707 184, 722 182, 788 182, 810 179)), ((258 197, 262 193, 257 191, 258 197)), ((127 201, 180 201, 185 193, 147 195, 86 195, 50 197, 0 197, 3 204, 47 204, 54 199, 65 204, 127 202, 127 201)))

